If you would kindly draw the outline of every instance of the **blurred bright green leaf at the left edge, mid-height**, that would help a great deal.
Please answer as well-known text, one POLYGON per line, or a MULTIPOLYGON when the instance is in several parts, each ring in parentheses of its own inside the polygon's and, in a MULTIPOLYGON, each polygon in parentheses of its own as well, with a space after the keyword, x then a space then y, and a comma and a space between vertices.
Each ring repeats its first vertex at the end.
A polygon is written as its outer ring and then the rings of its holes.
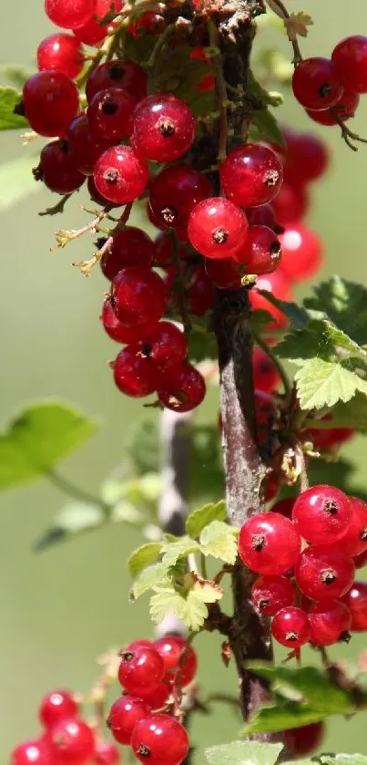
POLYGON ((46 475, 95 429, 87 415, 62 402, 29 404, 0 435, 0 489, 46 475))

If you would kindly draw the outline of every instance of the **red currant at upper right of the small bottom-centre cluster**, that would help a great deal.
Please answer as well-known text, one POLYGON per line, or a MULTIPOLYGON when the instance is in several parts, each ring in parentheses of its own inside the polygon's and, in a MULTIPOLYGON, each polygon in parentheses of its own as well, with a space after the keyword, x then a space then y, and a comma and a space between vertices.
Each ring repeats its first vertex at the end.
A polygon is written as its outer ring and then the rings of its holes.
POLYGON ((194 679, 198 668, 198 658, 194 648, 192 646, 186 647, 186 641, 178 635, 158 637, 154 645, 165 664, 165 680, 173 683, 176 679, 179 687, 188 686, 194 679), (178 663, 184 652, 185 658, 180 664, 179 671, 177 671, 178 663))

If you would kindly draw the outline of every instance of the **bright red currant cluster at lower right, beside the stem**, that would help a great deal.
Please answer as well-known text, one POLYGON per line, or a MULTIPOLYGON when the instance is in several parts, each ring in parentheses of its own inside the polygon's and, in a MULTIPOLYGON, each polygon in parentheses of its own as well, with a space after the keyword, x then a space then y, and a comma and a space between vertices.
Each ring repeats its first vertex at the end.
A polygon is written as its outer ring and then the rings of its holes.
POLYGON ((273 617, 282 646, 331 646, 367 629, 367 584, 353 583, 367 553, 367 505, 357 497, 320 485, 278 501, 243 524, 239 553, 261 574, 252 603, 273 617))

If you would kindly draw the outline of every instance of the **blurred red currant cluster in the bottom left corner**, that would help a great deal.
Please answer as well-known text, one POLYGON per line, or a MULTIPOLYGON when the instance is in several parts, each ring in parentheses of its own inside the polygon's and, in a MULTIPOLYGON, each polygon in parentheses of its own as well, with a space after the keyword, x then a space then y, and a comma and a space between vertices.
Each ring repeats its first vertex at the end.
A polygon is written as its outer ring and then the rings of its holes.
POLYGON ((17 746, 10 765, 117 765, 116 746, 98 739, 95 731, 78 717, 74 698, 64 690, 50 693, 38 710, 45 732, 17 746))

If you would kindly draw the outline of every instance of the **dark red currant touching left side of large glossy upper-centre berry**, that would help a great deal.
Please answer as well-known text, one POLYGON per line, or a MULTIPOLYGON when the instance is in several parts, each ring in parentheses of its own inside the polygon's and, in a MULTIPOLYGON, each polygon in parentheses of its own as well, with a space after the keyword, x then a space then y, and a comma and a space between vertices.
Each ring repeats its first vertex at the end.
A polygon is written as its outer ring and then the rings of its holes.
POLYGON ((96 93, 87 110, 95 138, 116 142, 127 138, 129 119, 136 105, 137 98, 127 88, 108 88, 96 93))

